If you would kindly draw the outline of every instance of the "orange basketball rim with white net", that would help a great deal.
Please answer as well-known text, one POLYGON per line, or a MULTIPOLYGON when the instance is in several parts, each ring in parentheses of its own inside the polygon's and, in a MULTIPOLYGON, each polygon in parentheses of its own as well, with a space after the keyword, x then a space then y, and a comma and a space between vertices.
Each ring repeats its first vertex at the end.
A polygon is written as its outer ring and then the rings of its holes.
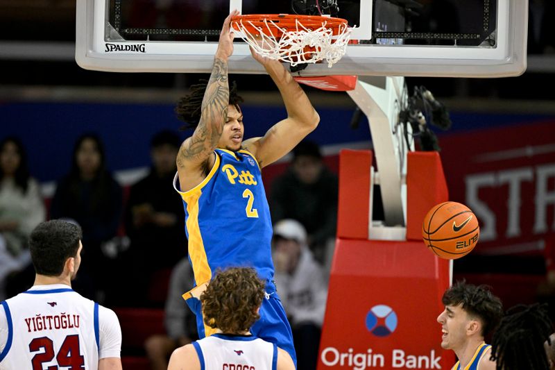
POLYGON ((345 55, 352 31, 345 19, 318 15, 237 15, 231 26, 261 56, 292 67, 321 60, 332 67, 345 55))

